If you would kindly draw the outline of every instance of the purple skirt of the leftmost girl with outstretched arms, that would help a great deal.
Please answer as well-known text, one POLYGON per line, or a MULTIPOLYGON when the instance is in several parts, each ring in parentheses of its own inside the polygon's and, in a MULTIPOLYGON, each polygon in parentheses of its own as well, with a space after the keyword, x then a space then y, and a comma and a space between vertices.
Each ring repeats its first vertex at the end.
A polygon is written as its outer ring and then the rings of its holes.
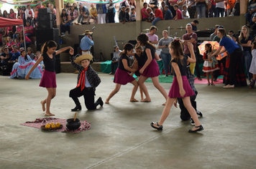
POLYGON ((56 88, 57 84, 55 72, 44 70, 44 72, 42 73, 42 78, 39 86, 46 88, 56 88))

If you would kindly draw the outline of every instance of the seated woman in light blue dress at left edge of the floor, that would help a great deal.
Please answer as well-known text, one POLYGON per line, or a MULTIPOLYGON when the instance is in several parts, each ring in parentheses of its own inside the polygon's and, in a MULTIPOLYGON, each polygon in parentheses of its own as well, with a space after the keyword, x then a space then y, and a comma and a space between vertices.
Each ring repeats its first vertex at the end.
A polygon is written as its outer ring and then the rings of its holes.
MULTIPOLYGON (((32 61, 29 55, 26 54, 24 48, 20 48, 20 52, 21 56, 19 56, 18 62, 16 62, 12 67, 11 76, 9 78, 17 79, 26 77, 27 73, 29 72, 29 69, 31 69, 35 64, 35 61, 32 61)), ((35 70, 33 70, 33 72, 30 74, 30 78, 40 79, 41 77, 42 66, 38 64, 35 70)))

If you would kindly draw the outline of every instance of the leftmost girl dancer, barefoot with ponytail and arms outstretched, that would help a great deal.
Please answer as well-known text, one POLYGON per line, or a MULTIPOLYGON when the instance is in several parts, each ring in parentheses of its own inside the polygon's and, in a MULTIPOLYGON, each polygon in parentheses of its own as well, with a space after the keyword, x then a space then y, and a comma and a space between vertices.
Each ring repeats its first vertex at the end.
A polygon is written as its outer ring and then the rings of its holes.
POLYGON ((42 60, 45 64, 45 70, 42 74, 42 79, 39 84, 40 87, 46 87, 46 90, 48 92, 48 96, 45 100, 41 101, 42 105, 42 111, 45 111, 45 103, 46 103, 46 112, 45 115, 52 116, 54 114, 50 113, 50 101, 55 97, 56 95, 56 75, 55 75, 55 55, 60 54, 61 52, 65 52, 65 50, 70 49, 69 53, 73 55, 74 49, 72 47, 63 47, 62 49, 59 49, 56 51, 57 44, 54 41, 48 41, 45 42, 45 44, 42 47, 42 57, 37 59, 37 62, 34 64, 34 66, 29 70, 27 76, 25 79, 29 79, 29 75, 31 72, 37 67, 42 60))

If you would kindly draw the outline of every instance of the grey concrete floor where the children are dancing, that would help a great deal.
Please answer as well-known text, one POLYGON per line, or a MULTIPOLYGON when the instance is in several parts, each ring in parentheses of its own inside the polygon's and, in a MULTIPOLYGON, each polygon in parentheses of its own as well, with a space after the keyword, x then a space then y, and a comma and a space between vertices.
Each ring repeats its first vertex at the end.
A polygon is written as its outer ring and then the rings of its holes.
MULTIPOLYGON (((114 89, 109 74, 99 74, 96 97, 104 100, 114 89)), ((69 90, 77 74, 57 74, 57 95, 51 102, 55 117, 74 113, 69 90)), ((91 122, 86 132, 42 132, 20 125, 45 117, 40 101, 47 92, 40 79, 9 79, 0 76, 0 168, 255 168, 256 90, 249 87, 224 89, 223 84, 196 84, 198 109, 204 131, 188 133, 173 108, 163 131, 150 127, 159 120, 165 102, 152 83, 146 83, 152 102, 129 102, 132 84, 121 87, 111 100, 94 111, 78 112, 91 122)), ((168 92, 170 84, 162 84, 168 92)), ((140 94, 137 92, 137 99, 140 94)), ((83 102, 83 100, 81 100, 83 102)))

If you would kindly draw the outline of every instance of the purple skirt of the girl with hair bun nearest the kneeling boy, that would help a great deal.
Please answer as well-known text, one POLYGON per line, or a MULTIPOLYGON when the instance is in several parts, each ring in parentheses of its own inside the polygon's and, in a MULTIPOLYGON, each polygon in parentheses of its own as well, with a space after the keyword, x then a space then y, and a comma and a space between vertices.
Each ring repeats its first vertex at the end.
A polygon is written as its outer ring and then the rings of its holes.
POLYGON ((134 77, 129 75, 129 72, 126 72, 122 69, 117 68, 116 73, 114 74, 114 83, 118 84, 127 84, 129 82, 134 81, 134 77))

